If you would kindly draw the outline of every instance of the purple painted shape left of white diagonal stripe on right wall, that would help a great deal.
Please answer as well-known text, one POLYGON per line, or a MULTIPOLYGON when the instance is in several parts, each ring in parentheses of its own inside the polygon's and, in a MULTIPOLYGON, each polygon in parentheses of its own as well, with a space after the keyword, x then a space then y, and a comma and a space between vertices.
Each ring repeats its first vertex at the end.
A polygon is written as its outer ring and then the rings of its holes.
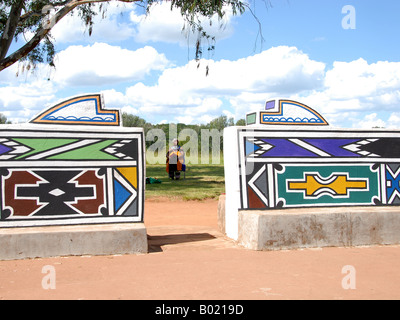
POLYGON ((319 157, 286 139, 262 139, 262 141, 274 146, 274 148, 266 151, 262 157, 319 157))

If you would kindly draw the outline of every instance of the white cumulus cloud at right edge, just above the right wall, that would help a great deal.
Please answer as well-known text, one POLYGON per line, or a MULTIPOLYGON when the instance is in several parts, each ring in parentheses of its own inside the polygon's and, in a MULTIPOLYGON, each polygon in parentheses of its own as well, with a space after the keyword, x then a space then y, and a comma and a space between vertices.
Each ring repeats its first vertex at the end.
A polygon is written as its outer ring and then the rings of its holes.
POLYGON ((295 99, 316 108, 335 126, 394 127, 393 121, 386 122, 379 113, 398 110, 399 62, 336 61, 324 78, 322 88, 295 95, 295 99))

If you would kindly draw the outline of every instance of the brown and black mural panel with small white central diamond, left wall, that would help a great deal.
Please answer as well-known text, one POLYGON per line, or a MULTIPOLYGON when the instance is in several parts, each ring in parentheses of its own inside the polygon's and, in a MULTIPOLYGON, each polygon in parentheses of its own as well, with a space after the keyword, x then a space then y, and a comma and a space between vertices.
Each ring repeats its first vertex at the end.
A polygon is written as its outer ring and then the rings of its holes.
POLYGON ((105 177, 98 171, 4 170, 2 218, 101 214, 106 206, 105 177))

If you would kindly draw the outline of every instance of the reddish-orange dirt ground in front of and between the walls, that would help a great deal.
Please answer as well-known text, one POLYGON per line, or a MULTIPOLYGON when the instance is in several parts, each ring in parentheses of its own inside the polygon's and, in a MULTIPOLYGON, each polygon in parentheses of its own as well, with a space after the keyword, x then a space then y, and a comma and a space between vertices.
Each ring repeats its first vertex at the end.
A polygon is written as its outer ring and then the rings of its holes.
POLYGON ((400 246, 251 251, 218 231, 217 206, 146 200, 148 254, 0 261, 0 299, 400 298, 400 246))

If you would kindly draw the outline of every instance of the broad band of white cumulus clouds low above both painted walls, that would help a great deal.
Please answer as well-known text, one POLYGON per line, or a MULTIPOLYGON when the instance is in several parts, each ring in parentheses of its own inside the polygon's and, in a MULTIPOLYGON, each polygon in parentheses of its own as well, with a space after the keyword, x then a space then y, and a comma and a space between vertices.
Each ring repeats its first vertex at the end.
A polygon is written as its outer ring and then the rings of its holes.
POLYGON ((103 91, 108 107, 152 123, 206 123, 221 114, 238 120, 262 109, 267 100, 288 98, 316 109, 333 126, 400 126, 399 62, 358 59, 327 68, 295 47, 280 46, 234 61, 173 66, 149 46, 133 51, 94 43, 68 47, 57 54, 56 63, 52 81, 46 83, 13 81, 14 69, 1 73, 0 112, 19 118, 50 101, 62 87, 99 84, 109 87, 103 91), (149 81, 154 74, 156 80, 149 81), (117 88, 122 81, 124 86, 117 88))

